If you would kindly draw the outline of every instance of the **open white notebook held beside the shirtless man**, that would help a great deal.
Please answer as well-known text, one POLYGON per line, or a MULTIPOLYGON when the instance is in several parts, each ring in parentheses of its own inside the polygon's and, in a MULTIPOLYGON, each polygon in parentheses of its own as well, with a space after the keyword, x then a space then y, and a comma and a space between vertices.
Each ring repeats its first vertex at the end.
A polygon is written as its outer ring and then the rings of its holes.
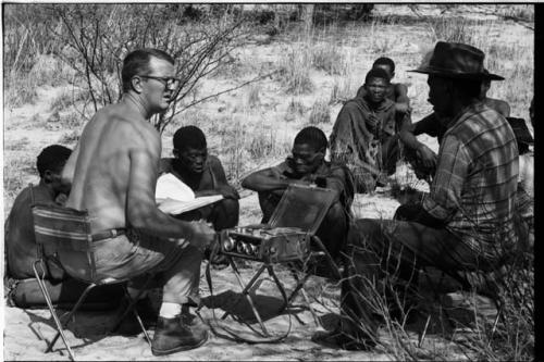
POLYGON ((178 215, 218 202, 221 195, 195 197, 195 192, 180 178, 168 173, 157 179, 154 198, 159 210, 166 214, 178 215))

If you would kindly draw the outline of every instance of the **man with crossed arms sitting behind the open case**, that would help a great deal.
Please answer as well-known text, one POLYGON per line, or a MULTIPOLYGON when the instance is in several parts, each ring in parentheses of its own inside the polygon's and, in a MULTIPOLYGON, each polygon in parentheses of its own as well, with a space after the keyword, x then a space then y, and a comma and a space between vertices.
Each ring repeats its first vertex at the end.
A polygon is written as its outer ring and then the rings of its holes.
POLYGON ((242 186, 257 191, 267 223, 289 185, 317 185, 335 191, 335 199, 316 235, 333 258, 343 248, 348 229, 349 210, 354 197, 349 170, 324 160, 326 136, 317 127, 306 127, 295 137, 293 153, 276 166, 257 171, 242 186))

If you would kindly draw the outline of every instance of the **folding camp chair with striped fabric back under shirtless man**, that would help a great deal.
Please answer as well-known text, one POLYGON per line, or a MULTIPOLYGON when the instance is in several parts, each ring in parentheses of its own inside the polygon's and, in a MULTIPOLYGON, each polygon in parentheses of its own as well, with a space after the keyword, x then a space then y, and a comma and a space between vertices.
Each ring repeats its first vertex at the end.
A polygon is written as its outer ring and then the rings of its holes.
MULTIPOLYGON (((127 279, 116 279, 112 277, 100 278, 97 276, 95 251, 92 244, 92 235, 90 233, 89 216, 86 211, 78 211, 70 208, 62 208, 50 204, 34 204, 32 208, 33 219, 34 219, 34 232, 36 235, 37 244, 37 259, 33 264, 34 274, 38 280, 44 298, 46 299, 51 316, 54 320, 57 327, 57 335, 48 344, 47 352, 53 349, 54 344, 62 338, 66 349, 69 351, 70 358, 75 360, 74 352, 70 347, 63 329, 69 324, 72 316, 77 312, 82 303, 85 301, 86 297, 95 287, 112 284, 126 284, 127 279), (44 278, 46 275, 47 262, 57 263, 62 267, 61 262, 58 258, 59 251, 71 252, 75 258, 78 259, 77 269, 63 267, 66 273, 84 283, 88 284, 88 287, 83 291, 82 296, 73 307, 73 309, 67 313, 66 319, 61 323, 59 315, 51 302, 51 297, 47 289, 44 278)), ((149 282, 149 278, 148 278, 149 282)), ((148 341, 151 344, 149 335, 144 327, 141 319, 138 312, 134 308, 135 300, 131 298, 127 292, 126 285, 123 286, 125 289, 125 298, 128 300, 128 308, 125 310, 123 315, 119 319, 115 327, 119 326, 121 321, 127 315, 128 312, 133 312, 134 316, 138 321, 141 330, 148 341)), ((144 290, 144 289, 143 289, 144 290)), ((136 299, 137 300, 137 299, 136 299)))

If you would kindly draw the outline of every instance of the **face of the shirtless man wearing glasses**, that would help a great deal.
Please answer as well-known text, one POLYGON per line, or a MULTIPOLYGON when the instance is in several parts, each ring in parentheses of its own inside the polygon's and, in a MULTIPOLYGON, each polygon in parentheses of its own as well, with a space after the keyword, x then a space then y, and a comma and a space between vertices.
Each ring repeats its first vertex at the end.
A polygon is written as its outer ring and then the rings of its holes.
POLYGON ((170 62, 151 57, 149 61, 149 74, 143 76, 144 92, 148 103, 154 113, 164 112, 173 100, 175 85, 168 86, 166 78, 175 75, 174 65, 170 62), (157 79, 162 78, 162 79, 157 79))

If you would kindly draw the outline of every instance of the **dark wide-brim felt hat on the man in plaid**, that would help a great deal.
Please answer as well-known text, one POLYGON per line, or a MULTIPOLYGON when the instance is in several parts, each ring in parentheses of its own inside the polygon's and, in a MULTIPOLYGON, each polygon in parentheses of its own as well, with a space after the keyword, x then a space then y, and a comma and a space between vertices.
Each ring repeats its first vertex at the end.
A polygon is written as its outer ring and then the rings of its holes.
POLYGON ((504 80, 483 67, 485 54, 478 48, 460 42, 438 41, 429 61, 417 70, 408 71, 437 75, 446 78, 474 80, 504 80))

